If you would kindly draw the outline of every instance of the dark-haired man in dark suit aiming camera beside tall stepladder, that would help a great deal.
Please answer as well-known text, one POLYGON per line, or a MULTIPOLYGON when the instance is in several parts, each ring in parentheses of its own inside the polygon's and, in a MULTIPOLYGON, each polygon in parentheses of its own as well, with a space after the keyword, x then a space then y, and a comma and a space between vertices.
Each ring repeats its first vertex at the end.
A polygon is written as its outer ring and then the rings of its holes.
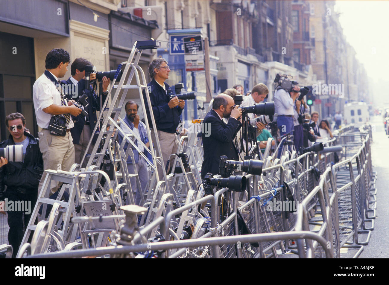
MULTIPOLYGON (((89 140, 91 139, 92 132, 95 129, 97 116, 96 111, 100 111, 100 100, 96 96, 95 92, 92 89, 92 86, 89 85, 89 89, 85 89, 85 66, 92 65, 87 59, 84 58, 76 58, 72 65, 70 66, 70 72, 72 74, 68 80, 62 80, 62 84, 68 84, 67 86, 75 86, 74 88, 65 88, 64 90, 75 90, 75 94, 71 94, 70 92, 65 92, 65 95, 68 99, 78 100, 83 91, 88 96, 86 99, 88 102, 88 106, 85 108, 85 111, 88 113, 88 116, 83 116, 82 114, 77 117, 72 115, 72 120, 74 122, 74 128, 70 130, 73 138, 74 144, 74 162, 80 164, 81 159, 84 156, 84 153, 89 150, 88 147, 89 140)), ((90 74, 90 80, 96 79, 96 73, 90 74)), ((107 77, 103 77, 103 94, 107 95, 108 85, 110 80, 107 77)), ((93 148, 93 145, 96 143, 97 137, 93 138, 92 145, 89 147, 93 148)), ((86 166, 86 161, 84 161, 81 167, 86 166)))

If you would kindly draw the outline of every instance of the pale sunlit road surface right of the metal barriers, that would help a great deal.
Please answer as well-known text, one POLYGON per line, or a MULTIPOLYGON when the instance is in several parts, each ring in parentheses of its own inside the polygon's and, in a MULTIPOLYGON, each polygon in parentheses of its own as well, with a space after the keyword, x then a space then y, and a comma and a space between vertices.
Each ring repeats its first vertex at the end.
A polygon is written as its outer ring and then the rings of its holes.
MULTIPOLYGON (((377 218, 368 245, 359 258, 389 258, 389 137, 385 135, 382 116, 371 117, 373 144, 371 159, 377 173, 377 218)), ((370 224, 369 224, 370 226, 370 224)), ((364 240, 364 236, 361 236, 364 240)))

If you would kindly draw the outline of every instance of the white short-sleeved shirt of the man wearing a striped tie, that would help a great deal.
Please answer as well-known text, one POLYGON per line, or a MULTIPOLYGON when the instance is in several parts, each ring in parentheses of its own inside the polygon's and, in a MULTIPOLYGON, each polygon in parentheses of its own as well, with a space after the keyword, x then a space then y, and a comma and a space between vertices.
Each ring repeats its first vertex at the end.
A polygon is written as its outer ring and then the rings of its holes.
MULTIPOLYGON (((58 81, 58 78, 54 74, 53 76, 56 81, 58 81)), ((44 73, 35 81, 32 87, 32 93, 37 124, 40 128, 47 129, 52 115, 45 113, 43 109, 53 104, 62 106, 61 94, 53 82, 51 82, 44 73)), ((69 124, 66 126, 68 129, 73 128, 73 121, 70 120, 69 124)))

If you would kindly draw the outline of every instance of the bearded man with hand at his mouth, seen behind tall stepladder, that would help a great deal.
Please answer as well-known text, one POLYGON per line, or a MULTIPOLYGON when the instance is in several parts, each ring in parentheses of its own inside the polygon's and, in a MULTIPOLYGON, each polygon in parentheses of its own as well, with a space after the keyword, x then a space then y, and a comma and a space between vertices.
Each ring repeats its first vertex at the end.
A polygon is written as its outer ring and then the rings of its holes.
MULTIPOLYGON (((147 147, 149 147, 149 138, 147 137, 146 125, 139 120, 138 104, 135 103, 134 101, 128 101, 126 103, 126 106, 124 106, 124 108, 126 110, 126 117, 124 117, 123 121, 126 123, 128 127, 130 127, 130 129, 135 133, 135 135, 138 138, 140 138, 142 143, 144 143, 147 147)), ((119 140, 119 144, 121 144, 123 140, 123 136, 121 135, 121 133, 119 133, 118 135, 118 140, 119 140)), ((140 149, 145 154, 145 156, 148 156, 147 154, 149 153, 147 152, 147 150, 144 149, 143 145, 139 143, 138 140, 135 140, 134 142, 137 145, 138 149, 140 149)), ((128 144, 124 145, 124 149, 127 149, 127 146, 128 144)), ((131 182, 131 189, 135 198, 135 204, 138 205, 141 200, 141 195, 143 191, 145 191, 147 182, 149 181, 149 171, 147 170, 147 163, 145 159, 138 153, 135 147, 132 147, 132 151, 134 154, 135 167, 137 168, 141 189, 138 189, 137 180, 135 177, 130 178, 130 182, 131 182)), ((130 156, 128 156, 127 158, 127 169, 128 169, 128 173, 135 173, 134 163, 133 161, 131 161, 130 156)))

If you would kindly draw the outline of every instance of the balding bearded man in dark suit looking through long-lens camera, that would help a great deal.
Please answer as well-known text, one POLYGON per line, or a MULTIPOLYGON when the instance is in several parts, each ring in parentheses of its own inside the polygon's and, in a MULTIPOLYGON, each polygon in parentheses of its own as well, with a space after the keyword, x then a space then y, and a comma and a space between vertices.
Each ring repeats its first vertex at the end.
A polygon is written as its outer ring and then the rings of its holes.
POLYGON ((235 138, 241 124, 238 118, 242 115, 239 106, 234 107, 234 100, 226 94, 219 94, 214 98, 212 110, 209 111, 203 120, 203 124, 209 124, 210 136, 202 133, 204 161, 201 168, 201 177, 207 173, 219 174, 220 156, 227 156, 228 159, 239 160, 238 151, 233 139, 235 138), (230 118, 228 124, 223 118, 230 118))

